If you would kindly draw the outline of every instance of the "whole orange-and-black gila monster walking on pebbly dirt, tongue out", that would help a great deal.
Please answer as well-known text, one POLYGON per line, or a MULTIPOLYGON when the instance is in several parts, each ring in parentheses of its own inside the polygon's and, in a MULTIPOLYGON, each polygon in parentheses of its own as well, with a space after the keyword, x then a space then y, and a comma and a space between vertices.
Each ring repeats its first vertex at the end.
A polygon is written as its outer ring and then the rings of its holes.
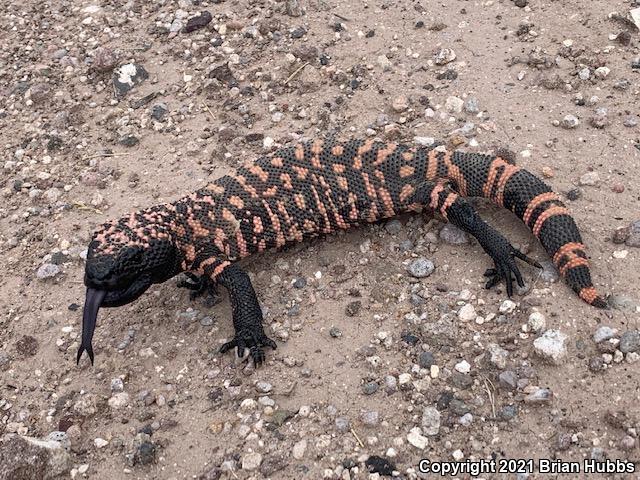
POLYGON ((93 363, 98 309, 127 304, 150 285, 185 272, 180 286, 197 292, 224 286, 235 337, 221 351, 276 348, 263 330, 249 276, 235 263, 309 237, 427 209, 473 235, 493 259, 491 288, 513 277, 515 259, 540 267, 486 224, 464 197, 484 197, 514 212, 540 240, 568 285, 606 308, 591 282, 578 228, 560 197, 535 175, 499 155, 373 140, 316 140, 282 148, 172 203, 104 224, 89 245, 82 343, 93 363))

